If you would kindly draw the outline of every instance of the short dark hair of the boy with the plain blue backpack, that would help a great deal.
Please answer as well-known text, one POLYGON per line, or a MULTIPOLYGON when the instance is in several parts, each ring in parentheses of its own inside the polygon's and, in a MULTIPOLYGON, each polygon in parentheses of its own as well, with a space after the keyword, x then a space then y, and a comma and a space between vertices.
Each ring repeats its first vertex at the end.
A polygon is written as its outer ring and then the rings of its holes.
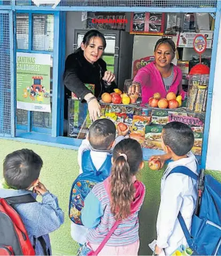
POLYGON ((163 126, 163 142, 174 154, 186 155, 194 145, 193 131, 187 124, 171 122, 163 126))

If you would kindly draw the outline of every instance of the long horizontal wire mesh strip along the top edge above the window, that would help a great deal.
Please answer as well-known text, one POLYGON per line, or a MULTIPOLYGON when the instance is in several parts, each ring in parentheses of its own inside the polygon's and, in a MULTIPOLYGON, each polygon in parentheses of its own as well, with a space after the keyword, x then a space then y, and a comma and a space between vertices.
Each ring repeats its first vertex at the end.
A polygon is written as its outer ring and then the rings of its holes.
MULTIPOLYGON (((35 5, 28 0, 17 0, 17 5, 35 5)), ((42 4, 52 6, 54 4, 42 4)), ((62 0, 58 6, 100 7, 216 7, 215 0, 62 0)))

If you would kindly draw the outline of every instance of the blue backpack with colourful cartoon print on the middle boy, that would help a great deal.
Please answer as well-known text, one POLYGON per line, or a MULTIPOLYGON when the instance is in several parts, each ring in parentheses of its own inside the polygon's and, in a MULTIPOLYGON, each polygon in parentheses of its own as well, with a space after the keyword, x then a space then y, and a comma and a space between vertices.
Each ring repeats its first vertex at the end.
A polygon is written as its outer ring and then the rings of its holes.
POLYGON ((107 155, 101 168, 96 170, 92 158, 90 157, 90 150, 83 152, 83 173, 74 180, 69 200, 69 217, 75 224, 83 225, 81 221, 81 210, 88 193, 93 189, 94 185, 103 182, 103 180, 110 175, 111 157, 112 155, 107 155))

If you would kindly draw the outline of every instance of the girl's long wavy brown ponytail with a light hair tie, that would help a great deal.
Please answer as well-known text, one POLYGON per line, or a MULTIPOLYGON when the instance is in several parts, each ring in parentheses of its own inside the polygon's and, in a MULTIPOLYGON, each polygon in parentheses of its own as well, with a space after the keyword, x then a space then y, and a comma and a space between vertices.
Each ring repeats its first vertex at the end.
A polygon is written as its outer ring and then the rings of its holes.
POLYGON ((111 212, 116 220, 124 220, 131 213, 135 188, 126 154, 118 155, 110 176, 111 212))

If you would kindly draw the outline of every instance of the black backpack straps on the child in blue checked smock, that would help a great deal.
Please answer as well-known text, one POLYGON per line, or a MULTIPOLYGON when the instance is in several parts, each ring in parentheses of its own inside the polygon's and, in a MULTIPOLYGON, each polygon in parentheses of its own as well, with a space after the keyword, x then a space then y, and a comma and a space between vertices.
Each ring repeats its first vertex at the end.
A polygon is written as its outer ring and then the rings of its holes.
MULTIPOLYGON (((18 195, 18 197, 8 197, 8 198, 5 198, 5 201, 14 210, 16 210, 16 208, 14 208, 14 205, 16 204, 28 204, 30 202, 36 202, 32 194, 18 195)), ((36 240, 39 240, 39 242, 41 243, 42 249, 44 251, 44 255, 49 255, 43 236, 33 237, 33 240, 34 240, 34 243, 33 243, 34 250, 35 250, 36 240)))

